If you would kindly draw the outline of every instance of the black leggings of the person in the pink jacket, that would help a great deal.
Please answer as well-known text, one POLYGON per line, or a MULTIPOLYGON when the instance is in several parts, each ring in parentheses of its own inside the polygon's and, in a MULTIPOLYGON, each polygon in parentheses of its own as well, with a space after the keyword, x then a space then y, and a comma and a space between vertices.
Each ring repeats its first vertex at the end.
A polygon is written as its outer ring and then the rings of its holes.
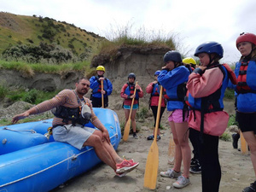
POLYGON ((197 138, 201 163, 202 192, 218 192, 221 179, 221 169, 218 160, 218 137, 203 134, 200 141, 200 131, 190 129, 197 138))

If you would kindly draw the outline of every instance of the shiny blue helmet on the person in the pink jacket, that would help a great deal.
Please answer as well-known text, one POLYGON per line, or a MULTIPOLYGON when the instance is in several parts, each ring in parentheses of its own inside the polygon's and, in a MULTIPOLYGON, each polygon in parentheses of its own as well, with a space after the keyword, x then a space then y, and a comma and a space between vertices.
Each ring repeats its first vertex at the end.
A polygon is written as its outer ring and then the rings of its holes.
POLYGON ((215 53, 218 55, 219 59, 221 59, 223 57, 223 52, 224 50, 221 44, 218 44, 217 42, 214 42, 214 41, 209 41, 199 45, 195 49, 195 56, 198 56, 201 53, 207 53, 207 54, 215 53))

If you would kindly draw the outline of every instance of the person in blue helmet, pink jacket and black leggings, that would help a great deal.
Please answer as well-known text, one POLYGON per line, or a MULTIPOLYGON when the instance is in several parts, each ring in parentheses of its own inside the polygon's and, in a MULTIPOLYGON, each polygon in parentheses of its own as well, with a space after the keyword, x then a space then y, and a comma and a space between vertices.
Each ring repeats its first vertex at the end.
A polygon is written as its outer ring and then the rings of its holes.
MULTIPOLYGON (((217 42, 206 42, 195 49, 201 66, 190 75, 187 83, 189 91, 189 127, 197 138, 197 150, 201 163, 202 192, 218 192, 221 169, 218 160, 218 137, 229 121, 224 112, 224 91, 229 78, 236 84, 235 73, 227 64, 220 64, 224 49, 217 42)), ((196 147, 196 146, 195 146, 196 147)))

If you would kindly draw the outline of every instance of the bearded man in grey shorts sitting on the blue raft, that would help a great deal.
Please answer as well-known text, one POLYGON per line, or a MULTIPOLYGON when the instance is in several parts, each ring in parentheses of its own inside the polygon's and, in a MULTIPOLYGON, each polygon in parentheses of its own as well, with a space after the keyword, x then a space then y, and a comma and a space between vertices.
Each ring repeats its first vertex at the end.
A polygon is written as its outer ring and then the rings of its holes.
POLYGON ((29 115, 44 113, 55 108, 52 134, 56 142, 69 143, 79 150, 85 146, 91 146, 95 149, 98 158, 112 167, 118 177, 125 176, 139 163, 134 160, 123 160, 114 150, 110 143, 108 130, 96 117, 90 100, 84 97, 90 89, 90 81, 81 78, 75 86, 75 90, 61 90, 52 99, 41 102, 24 113, 15 115, 12 123, 15 124, 18 120, 29 115), (98 130, 84 126, 89 121, 98 130))

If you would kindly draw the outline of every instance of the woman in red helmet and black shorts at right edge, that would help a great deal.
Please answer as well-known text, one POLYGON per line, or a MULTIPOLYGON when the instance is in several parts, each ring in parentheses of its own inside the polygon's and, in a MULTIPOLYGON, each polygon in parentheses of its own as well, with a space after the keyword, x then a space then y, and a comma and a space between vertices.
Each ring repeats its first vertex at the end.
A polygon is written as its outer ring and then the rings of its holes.
MULTIPOLYGON (((256 35, 241 33, 236 39, 236 48, 241 59, 236 63, 236 118, 242 135, 250 148, 253 170, 256 177, 256 35)), ((256 181, 242 190, 255 192, 256 181)))

